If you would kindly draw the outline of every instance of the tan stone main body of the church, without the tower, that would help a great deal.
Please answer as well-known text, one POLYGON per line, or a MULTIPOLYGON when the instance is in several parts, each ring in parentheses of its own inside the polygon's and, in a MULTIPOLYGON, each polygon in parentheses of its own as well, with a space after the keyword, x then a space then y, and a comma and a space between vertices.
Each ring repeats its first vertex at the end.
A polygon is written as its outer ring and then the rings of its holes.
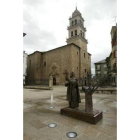
POLYGON ((87 72, 91 73, 90 55, 72 43, 47 52, 35 52, 28 57, 28 83, 48 84, 52 74, 56 84, 64 84, 66 70, 74 72, 78 79, 86 77, 87 72))

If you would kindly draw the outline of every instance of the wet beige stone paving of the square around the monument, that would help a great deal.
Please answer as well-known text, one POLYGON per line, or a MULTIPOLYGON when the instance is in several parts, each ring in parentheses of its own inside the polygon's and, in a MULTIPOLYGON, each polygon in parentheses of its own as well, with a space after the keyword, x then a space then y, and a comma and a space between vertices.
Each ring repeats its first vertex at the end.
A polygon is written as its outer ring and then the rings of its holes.
MULTIPOLYGON (((24 89, 24 140, 68 140, 66 133, 74 131, 74 140, 117 139, 117 95, 93 94, 93 108, 103 111, 103 119, 96 125, 60 114, 67 107, 66 87, 55 86, 53 90, 24 89), (50 108, 53 106, 54 108, 50 108), (56 123, 49 128, 49 123, 56 123)), ((84 93, 81 93, 84 108, 84 93)))

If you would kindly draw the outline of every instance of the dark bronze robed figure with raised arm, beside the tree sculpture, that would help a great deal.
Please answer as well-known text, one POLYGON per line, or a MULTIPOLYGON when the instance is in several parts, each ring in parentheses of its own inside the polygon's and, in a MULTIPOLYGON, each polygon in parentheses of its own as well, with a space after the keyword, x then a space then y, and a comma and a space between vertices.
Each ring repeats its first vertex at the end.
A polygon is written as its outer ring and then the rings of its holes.
POLYGON ((68 77, 68 73, 66 73, 66 80, 68 83, 65 84, 67 87, 67 101, 69 101, 69 107, 78 108, 79 103, 81 103, 79 87, 77 79, 75 78, 75 74, 72 72, 70 74, 70 78, 68 77))

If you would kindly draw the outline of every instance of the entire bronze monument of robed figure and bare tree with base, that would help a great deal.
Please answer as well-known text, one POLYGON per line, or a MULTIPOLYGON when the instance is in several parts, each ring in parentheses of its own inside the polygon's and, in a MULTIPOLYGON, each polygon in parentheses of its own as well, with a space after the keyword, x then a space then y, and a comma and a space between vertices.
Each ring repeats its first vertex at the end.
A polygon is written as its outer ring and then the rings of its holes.
POLYGON ((60 113, 71 118, 96 124, 102 119, 103 115, 101 111, 93 110, 92 94, 99 87, 98 83, 102 82, 96 81, 96 83, 92 85, 93 81, 89 79, 89 86, 83 87, 83 90, 85 91, 85 110, 82 108, 78 109, 79 103, 81 103, 81 99, 77 79, 75 78, 73 72, 70 74, 70 78, 68 77, 69 74, 67 71, 63 74, 66 75, 65 78, 68 81, 65 86, 68 87, 67 100, 69 101, 69 107, 62 108, 60 113))

